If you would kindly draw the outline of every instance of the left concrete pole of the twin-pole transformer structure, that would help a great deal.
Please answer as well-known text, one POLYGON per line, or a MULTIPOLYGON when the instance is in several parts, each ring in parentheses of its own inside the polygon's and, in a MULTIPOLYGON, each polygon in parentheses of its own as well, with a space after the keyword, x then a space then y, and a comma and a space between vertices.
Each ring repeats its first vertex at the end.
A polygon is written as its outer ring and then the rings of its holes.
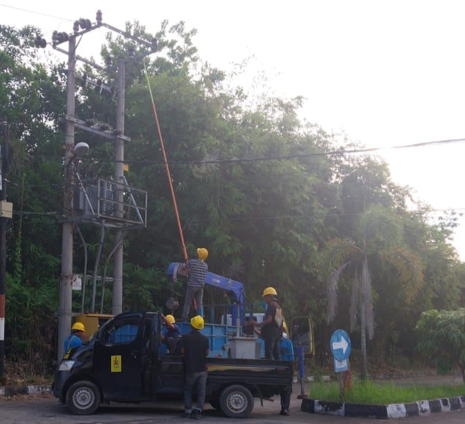
MULTIPOLYGON (((74 118, 75 82, 76 82, 76 38, 68 41, 68 85, 66 93, 66 115, 74 118)), ((74 121, 66 119, 65 126, 65 160, 64 160, 64 195, 63 215, 73 214, 74 197, 74 121)), ((71 332, 71 306, 73 300, 73 223, 63 222, 63 239, 61 245, 60 303, 58 310, 58 360, 63 357, 63 345, 71 332)))

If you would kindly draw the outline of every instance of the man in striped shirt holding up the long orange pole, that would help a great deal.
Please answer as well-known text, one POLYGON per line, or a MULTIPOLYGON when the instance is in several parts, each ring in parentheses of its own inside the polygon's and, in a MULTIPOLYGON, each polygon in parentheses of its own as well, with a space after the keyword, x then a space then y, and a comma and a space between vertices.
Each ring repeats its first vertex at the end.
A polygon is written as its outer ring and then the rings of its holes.
POLYGON ((195 300, 196 315, 202 313, 205 276, 207 275, 208 265, 205 260, 208 257, 208 250, 205 247, 197 249, 197 257, 189 259, 181 265, 180 270, 187 272, 187 289, 184 308, 182 310, 182 320, 189 320, 189 311, 191 303, 195 300))

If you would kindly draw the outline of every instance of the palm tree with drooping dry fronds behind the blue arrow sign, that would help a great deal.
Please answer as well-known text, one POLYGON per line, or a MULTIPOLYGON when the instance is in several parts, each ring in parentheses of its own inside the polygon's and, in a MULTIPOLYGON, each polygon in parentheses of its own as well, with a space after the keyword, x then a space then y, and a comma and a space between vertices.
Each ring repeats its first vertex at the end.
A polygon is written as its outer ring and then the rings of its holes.
POLYGON ((397 272, 408 302, 413 301, 423 284, 423 264, 415 252, 403 242, 402 224, 392 211, 374 207, 359 221, 359 237, 334 238, 328 242, 324 257, 329 264, 327 283, 327 322, 336 317, 338 283, 342 274, 353 276, 350 299, 350 331, 360 318, 361 377, 367 378, 366 336, 373 339, 375 319, 373 313, 373 286, 369 269, 371 260, 379 259, 390 264, 397 272), (357 240, 360 241, 357 243, 357 240), (376 258, 378 257, 378 258, 376 258))

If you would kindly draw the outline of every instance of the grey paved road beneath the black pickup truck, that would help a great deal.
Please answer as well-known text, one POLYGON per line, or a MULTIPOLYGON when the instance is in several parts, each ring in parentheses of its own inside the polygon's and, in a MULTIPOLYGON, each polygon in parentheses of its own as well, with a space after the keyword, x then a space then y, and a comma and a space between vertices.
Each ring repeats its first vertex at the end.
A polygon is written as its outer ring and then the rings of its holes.
MULTIPOLYGON (((380 424, 381 420, 367 418, 345 418, 328 415, 308 414, 300 411, 300 400, 296 399, 295 390, 291 402, 291 416, 286 417, 287 424, 380 424)), ((255 402, 254 412, 247 420, 225 418, 221 413, 206 408, 201 422, 208 424, 270 424, 282 423, 284 417, 278 414, 280 410, 279 397, 275 402, 265 402, 261 407, 255 402)), ((31 400, 10 400, 0 402, 0 423, 3 424, 169 424, 193 423, 180 419, 182 412, 179 402, 165 403, 163 408, 141 406, 111 406, 103 407, 90 416, 71 415, 66 406, 59 405, 54 398, 31 400)), ((464 424, 465 410, 442 414, 432 414, 428 417, 404 418, 386 421, 389 424, 464 424)))

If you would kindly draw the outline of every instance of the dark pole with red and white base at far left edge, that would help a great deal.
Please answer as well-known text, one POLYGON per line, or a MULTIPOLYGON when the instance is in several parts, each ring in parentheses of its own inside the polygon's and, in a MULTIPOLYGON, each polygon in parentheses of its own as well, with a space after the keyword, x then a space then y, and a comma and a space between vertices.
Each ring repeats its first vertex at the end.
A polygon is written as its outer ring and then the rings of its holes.
MULTIPOLYGON (((3 205, 6 200, 5 172, 6 172, 6 142, 8 137, 8 128, 6 117, 1 122, 1 202, 3 205)), ((6 289, 6 222, 5 217, 0 217, 0 384, 3 380, 3 358, 5 356, 5 289, 6 289)))

